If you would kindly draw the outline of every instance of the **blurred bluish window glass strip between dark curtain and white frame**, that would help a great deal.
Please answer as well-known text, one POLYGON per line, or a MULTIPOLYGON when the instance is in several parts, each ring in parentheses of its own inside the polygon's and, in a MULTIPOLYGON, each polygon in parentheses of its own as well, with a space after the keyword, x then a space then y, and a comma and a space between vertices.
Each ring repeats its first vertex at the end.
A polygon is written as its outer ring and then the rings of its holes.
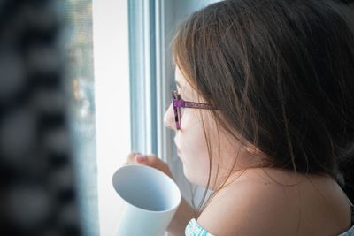
POLYGON ((92 1, 65 0, 67 88, 72 100, 71 126, 84 234, 99 235, 92 1))

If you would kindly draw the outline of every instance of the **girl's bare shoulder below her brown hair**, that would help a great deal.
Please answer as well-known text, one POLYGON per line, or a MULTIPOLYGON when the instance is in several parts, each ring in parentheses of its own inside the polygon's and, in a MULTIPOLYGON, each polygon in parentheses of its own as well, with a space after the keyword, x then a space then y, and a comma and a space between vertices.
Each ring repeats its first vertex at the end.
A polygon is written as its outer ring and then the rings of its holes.
POLYGON ((350 226, 350 209, 334 180, 253 170, 219 191, 197 222, 218 236, 335 235, 350 226))

